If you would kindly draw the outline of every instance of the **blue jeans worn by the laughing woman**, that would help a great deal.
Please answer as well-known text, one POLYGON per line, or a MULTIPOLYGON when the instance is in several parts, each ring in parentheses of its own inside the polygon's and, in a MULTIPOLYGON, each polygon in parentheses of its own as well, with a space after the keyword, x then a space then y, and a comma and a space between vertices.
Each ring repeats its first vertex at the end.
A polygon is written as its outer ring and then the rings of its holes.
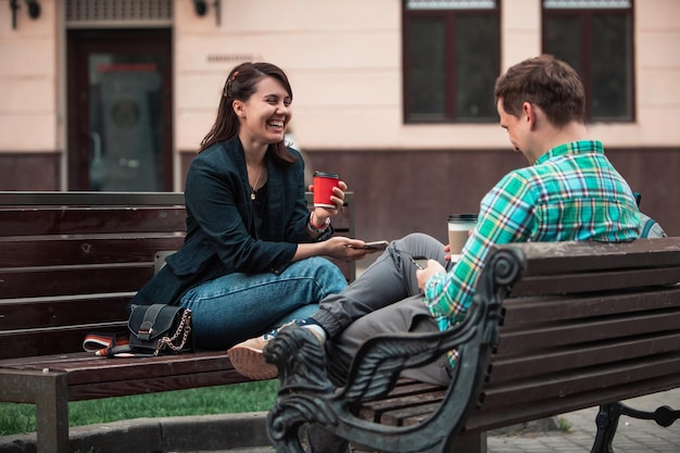
POLYGON ((229 349, 318 310, 318 302, 348 286, 338 266, 324 257, 292 263, 279 275, 229 274, 190 289, 180 306, 192 312, 199 349, 229 349))

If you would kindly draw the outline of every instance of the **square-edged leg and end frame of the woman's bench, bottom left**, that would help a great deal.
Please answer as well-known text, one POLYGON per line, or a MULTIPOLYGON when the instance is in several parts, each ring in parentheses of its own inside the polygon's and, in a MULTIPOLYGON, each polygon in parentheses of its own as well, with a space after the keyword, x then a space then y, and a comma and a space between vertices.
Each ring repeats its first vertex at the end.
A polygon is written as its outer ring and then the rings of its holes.
POLYGON ((0 400, 36 405, 38 453, 68 452, 68 386, 66 375, 0 372, 0 400))

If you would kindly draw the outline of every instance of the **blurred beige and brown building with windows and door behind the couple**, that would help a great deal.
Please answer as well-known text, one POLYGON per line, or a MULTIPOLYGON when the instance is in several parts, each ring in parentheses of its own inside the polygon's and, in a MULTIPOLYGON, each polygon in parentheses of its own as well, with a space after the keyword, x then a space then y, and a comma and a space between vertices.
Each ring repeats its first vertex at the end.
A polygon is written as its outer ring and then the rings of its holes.
POLYGON ((680 236, 679 0, 0 0, 0 190, 184 190, 228 72, 281 66, 292 133, 362 239, 425 231, 525 166, 493 84, 553 53, 642 209, 680 236))

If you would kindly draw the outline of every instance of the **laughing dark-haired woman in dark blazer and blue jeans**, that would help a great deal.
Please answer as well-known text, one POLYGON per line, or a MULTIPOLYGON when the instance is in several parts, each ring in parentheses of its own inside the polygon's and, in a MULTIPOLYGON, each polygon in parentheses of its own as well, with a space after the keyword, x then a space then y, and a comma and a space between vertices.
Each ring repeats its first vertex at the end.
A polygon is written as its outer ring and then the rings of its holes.
POLYGON ((217 118, 187 174, 187 237, 130 304, 192 311, 196 347, 228 349, 314 313, 347 281, 330 261, 358 260, 364 241, 332 237, 336 207, 307 210, 304 164, 284 142, 292 111, 286 74, 269 63, 235 67, 217 118))

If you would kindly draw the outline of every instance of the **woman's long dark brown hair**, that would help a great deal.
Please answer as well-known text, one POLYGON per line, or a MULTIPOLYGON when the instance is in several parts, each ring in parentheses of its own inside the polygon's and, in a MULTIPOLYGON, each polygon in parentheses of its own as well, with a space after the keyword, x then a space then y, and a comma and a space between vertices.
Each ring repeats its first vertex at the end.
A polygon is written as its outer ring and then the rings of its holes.
MULTIPOLYGON (((239 118, 234 111, 231 104, 235 100, 248 101, 256 91, 256 85, 265 77, 272 77, 278 80, 288 96, 292 100, 293 92, 288 81, 288 76, 278 66, 272 63, 251 63, 245 62, 237 65, 227 77, 225 87, 222 91, 222 99, 217 108, 217 117, 210 133, 201 141, 199 152, 205 150, 210 146, 218 141, 227 141, 236 137, 239 133, 239 118)), ((269 144, 268 154, 276 161, 292 164, 298 158, 291 154, 286 147, 285 140, 269 144)))

